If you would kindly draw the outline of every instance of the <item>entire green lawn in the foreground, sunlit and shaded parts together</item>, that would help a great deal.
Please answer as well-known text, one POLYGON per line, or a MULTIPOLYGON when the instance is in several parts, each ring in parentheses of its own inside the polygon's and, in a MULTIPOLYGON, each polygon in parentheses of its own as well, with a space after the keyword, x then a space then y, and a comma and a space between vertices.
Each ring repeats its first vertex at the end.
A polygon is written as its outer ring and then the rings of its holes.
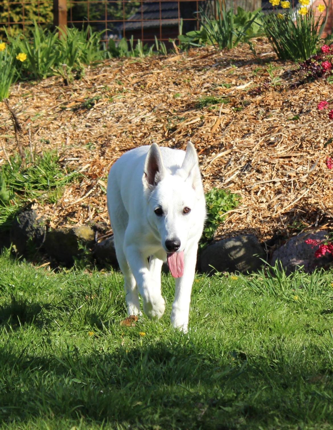
POLYGON ((170 276, 165 316, 122 327, 120 273, 0 265, 3 429, 332 428, 332 273, 197 276, 183 335, 170 276))

